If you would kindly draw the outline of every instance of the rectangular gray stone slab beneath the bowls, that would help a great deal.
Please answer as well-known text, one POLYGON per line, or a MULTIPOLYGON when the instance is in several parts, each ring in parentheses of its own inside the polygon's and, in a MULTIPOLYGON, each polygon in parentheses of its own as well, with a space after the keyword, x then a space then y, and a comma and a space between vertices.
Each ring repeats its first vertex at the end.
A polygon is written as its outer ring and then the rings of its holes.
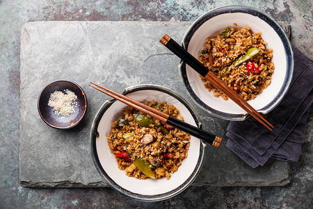
POLYGON ((93 81, 122 92, 136 84, 158 84, 189 100, 205 130, 224 137, 207 146, 204 166, 193 185, 266 186, 289 183, 287 162, 270 160, 252 169, 225 147, 228 122, 193 103, 179 78, 179 59, 159 40, 182 40, 191 22, 31 22, 22 28, 20 70, 19 182, 26 187, 106 187, 90 154, 90 126, 109 98, 90 88, 93 81), (56 79, 79 84, 88 111, 72 130, 46 125, 37 110, 42 88, 56 79))

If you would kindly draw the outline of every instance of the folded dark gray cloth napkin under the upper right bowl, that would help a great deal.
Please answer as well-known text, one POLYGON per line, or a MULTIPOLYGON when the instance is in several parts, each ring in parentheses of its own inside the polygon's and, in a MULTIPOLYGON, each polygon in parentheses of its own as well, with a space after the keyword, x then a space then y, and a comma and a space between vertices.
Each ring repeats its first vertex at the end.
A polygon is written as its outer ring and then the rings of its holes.
POLYGON ((264 117, 273 131, 249 117, 227 127, 226 146, 251 167, 264 165, 268 158, 297 161, 305 135, 307 115, 313 101, 312 61, 294 45, 294 74, 289 91, 273 111, 264 117))

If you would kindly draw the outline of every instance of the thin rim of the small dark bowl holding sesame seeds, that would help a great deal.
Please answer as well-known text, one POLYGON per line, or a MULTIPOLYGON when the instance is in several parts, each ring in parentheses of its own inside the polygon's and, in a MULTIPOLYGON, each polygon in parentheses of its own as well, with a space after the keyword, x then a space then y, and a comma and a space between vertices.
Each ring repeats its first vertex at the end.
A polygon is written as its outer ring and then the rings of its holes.
POLYGON ((42 90, 40 91, 40 94, 38 96, 38 100, 37 100, 37 109, 38 109, 38 113, 40 115, 40 118, 42 119, 42 121, 44 121, 47 125, 49 125, 50 127, 54 127, 56 129, 60 129, 60 130, 68 130, 72 127, 75 127, 77 126, 79 123, 81 123, 81 121, 83 120, 83 117, 86 115, 86 112, 87 112, 87 107, 88 107, 88 101, 87 101, 87 96, 86 96, 86 93, 85 91, 83 91, 83 88, 81 88, 81 86, 79 86, 79 84, 75 83, 75 82, 71 82, 69 80, 65 80, 65 79, 60 79, 60 80, 56 80, 54 82, 50 82, 49 84, 47 84, 44 88, 42 88, 42 90), (56 126, 56 125, 52 125, 51 123, 48 123, 47 120, 45 119, 44 116, 42 116, 42 112, 40 111, 40 98, 42 96, 42 92, 45 91, 45 89, 48 87, 48 86, 51 86, 52 84, 55 84, 57 82, 67 82, 67 83, 70 83, 70 84, 73 84, 74 86, 77 86, 77 88, 79 88, 82 92, 82 95, 83 95, 83 102, 85 104, 85 109, 83 110, 83 114, 81 114, 81 117, 79 118, 79 120, 77 120, 75 123, 72 123, 71 125, 67 125, 67 126, 56 126))

